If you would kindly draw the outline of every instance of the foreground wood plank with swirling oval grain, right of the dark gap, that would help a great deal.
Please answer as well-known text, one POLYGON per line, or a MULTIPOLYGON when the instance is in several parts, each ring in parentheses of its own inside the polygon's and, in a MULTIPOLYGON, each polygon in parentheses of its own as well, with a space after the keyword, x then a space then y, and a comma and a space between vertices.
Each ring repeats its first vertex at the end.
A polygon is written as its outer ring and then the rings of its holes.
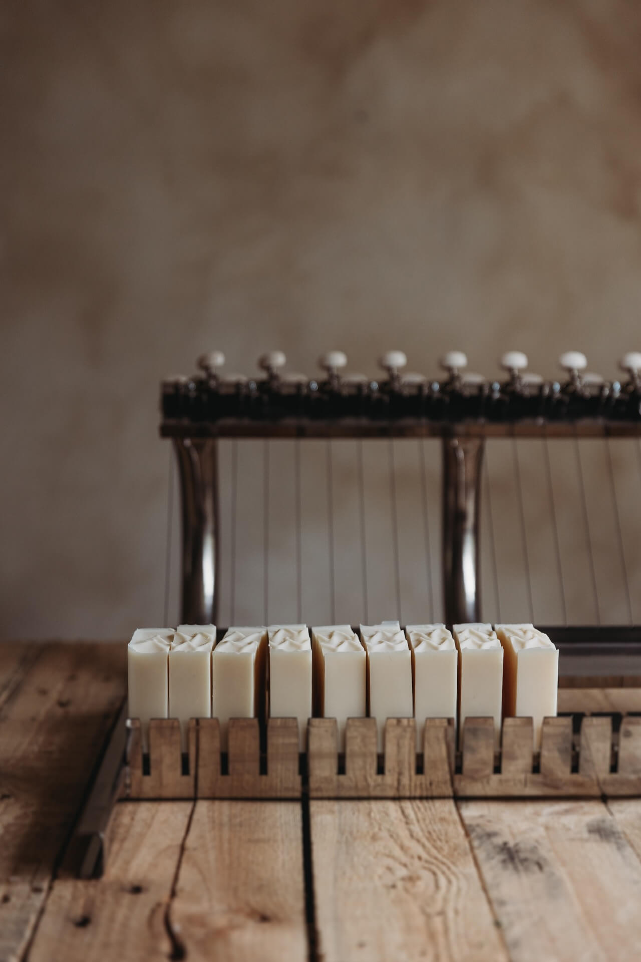
POLYGON ((451 800, 309 807, 324 962, 506 959, 451 800))

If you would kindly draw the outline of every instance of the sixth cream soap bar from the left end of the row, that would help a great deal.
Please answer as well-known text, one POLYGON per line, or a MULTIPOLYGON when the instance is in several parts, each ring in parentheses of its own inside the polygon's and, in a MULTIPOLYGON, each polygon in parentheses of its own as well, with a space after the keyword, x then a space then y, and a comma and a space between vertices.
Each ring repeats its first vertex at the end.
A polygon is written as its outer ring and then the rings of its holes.
POLYGON ((411 652, 398 621, 361 624, 367 652, 368 714, 376 719, 378 750, 384 748, 386 719, 411 718, 411 652))

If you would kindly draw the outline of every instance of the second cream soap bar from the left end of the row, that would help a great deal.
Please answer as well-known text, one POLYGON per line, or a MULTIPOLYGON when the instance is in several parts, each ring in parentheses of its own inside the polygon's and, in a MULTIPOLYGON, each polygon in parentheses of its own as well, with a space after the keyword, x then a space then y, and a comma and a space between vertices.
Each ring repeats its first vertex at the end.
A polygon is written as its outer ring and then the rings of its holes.
POLYGON ((211 716, 213 624, 179 624, 169 649, 169 718, 181 722, 181 746, 187 750, 189 719, 211 716))

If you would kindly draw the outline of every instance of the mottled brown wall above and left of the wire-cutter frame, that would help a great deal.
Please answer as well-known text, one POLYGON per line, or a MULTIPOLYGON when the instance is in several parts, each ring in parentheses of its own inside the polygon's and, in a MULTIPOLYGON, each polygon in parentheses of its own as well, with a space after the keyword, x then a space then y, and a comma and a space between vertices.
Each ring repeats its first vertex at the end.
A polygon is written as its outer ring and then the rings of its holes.
POLYGON ((450 346, 638 348, 641 10, 22 2, 0 13, 1 629, 160 620, 158 382, 450 346))

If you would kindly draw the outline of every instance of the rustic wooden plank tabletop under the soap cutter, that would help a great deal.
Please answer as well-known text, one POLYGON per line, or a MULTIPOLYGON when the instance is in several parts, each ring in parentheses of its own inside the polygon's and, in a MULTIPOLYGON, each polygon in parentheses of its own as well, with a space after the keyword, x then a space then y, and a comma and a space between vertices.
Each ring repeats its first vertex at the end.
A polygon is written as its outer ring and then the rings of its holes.
POLYGON ((641 956, 641 799, 121 802, 77 880, 125 686, 124 644, 0 645, 0 962, 641 956))

